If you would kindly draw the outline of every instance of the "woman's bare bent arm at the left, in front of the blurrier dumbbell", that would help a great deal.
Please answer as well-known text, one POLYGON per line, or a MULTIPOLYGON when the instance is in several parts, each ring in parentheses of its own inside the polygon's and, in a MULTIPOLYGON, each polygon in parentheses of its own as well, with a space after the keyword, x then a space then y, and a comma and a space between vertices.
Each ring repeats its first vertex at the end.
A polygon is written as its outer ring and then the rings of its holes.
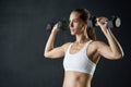
POLYGON ((45 58, 57 59, 57 58, 61 58, 64 55, 66 48, 69 44, 64 44, 61 47, 57 47, 57 48, 53 47, 58 30, 59 30, 59 27, 58 27, 58 24, 56 24, 51 30, 51 34, 45 47, 45 51, 44 51, 45 58))

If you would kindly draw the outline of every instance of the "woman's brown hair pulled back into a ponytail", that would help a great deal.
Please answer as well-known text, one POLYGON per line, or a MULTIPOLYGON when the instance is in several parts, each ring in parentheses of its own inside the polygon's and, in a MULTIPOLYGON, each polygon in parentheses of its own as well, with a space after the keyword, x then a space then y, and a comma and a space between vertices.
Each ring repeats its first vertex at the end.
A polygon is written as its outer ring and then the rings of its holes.
MULTIPOLYGON (((87 22, 87 20, 91 17, 91 13, 86 9, 75 9, 75 10, 73 10, 73 12, 79 12, 80 13, 80 18, 84 22, 87 22)), ((91 39, 96 40, 95 28, 94 27, 87 27, 86 30, 87 30, 87 36, 91 39)))

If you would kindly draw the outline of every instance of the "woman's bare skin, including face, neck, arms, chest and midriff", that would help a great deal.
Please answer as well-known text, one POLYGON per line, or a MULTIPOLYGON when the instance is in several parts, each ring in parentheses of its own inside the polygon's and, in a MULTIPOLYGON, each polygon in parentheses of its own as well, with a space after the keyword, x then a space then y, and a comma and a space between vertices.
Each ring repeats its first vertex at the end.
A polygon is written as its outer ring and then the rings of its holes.
MULTIPOLYGON (((91 40, 86 34, 87 22, 83 22, 79 16, 80 13, 78 12, 71 12, 70 14, 70 32, 71 35, 75 36, 75 41, 70 50, 71 54, 79 52, 85 42, 91 40)), ((97 25, 107 38, 108 45, 103 41, 93 41, 90 44, 86 53, 90 60, 97 64, 100 57, 109 60, 121 59, 123 57, 122 48, 111 33, 110 28, 107 27, 107 18, 97 17, 97 25)), ((59 27, 56 24, 46 44, 44 52, 45 58, 58 59, 64 57, 71 42, 53 48, 55 38, 58 32, 59 27)), ((63 87, 91 87, 92 78, 93 76, 86 73, 66 71, 63 87)))

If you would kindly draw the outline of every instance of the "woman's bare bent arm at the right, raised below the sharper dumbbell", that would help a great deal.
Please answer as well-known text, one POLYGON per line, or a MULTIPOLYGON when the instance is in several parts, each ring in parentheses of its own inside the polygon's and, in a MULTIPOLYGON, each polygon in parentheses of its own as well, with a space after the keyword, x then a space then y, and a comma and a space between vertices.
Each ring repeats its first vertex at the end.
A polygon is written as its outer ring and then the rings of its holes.
MULTIPOLYGON (((104 18, 105 20, 105 18, 104 18)), ((100 26, 104 35, 106 36, 108 40, 108 45, 104 42, 97 42, 97 51, 103 57, 110 59, 110 60, 117 60, 123 57, 123 50, 117 40, 117 38, 111 33, 110 28, 107 27, 107 23, 99 22, 98 25, 100 26)))

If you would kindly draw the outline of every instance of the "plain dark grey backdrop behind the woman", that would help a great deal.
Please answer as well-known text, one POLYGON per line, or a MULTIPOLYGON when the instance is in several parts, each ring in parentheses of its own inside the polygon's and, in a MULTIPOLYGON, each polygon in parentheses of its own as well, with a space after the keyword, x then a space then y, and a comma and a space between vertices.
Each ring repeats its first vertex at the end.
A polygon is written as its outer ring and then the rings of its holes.
MULTIPOLYGON (((63 17, 71 10, 86 8, 93 15, 118 15, 120 28, 112 29, 123 47, 124 58, 110 61, 102 58, 92 87, 131 87, 131 8, 126 0, 0 0, 0 87, 62 87, 62 60, 43 57, 49 33, 46 25, 63 17)), ((96 29, 97 39, 104 40, 96 29)), ((56 46, 73 40, 60 32, 56 46)))

